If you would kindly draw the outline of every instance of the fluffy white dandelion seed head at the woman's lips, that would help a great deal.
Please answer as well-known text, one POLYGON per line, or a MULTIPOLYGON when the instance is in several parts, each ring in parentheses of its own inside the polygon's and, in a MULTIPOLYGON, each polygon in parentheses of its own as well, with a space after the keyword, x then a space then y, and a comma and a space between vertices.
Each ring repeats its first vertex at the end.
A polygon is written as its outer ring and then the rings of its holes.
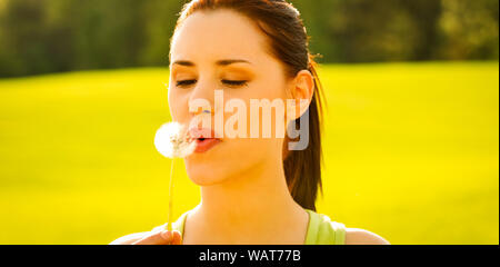
POLYGON ((196 141, 189 139, 179 122, 162 125, 154 136, 154 147, 167 158, 186 158, 194 151, 196 146, 196 141))

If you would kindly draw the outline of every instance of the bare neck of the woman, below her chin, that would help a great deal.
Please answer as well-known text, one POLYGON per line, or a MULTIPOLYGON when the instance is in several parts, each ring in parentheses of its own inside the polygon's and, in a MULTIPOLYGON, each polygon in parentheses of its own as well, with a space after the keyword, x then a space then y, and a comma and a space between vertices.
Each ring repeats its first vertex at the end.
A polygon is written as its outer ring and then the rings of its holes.
POLYGON ((279 160, 264 160, 222 184, 202 187, 201 202, 190 216, 202 221, 203 231, 217 230, 233 240, 242 233, 264 235, 302 224, 307 214, 291 197, 279 160))

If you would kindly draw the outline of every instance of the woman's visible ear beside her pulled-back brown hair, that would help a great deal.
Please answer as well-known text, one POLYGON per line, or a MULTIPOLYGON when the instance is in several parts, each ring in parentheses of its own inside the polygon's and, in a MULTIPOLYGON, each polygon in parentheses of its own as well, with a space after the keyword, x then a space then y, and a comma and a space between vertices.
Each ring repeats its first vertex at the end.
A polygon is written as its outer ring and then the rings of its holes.
POLYGON ((311 105, 314 95, 314 77, 309 70, 301 70, 291 81, 291 96, 287 101, 287 118, 300 118, 311 105))

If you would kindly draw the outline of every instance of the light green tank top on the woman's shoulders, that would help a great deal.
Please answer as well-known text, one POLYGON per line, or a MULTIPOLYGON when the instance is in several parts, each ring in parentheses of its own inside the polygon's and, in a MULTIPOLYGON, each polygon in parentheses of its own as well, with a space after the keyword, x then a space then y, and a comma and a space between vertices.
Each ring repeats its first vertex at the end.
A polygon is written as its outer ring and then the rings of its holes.
MULTIPOLYGON (((172 230, 177 230, 183 236, 186 217, 190 210, 182 214, 177 221, 172 224, 172 230)), ((306 209, 309 214, 309 225, 306 235, 304 245, 344 245, 346 244, 346 226, 343 224, 332 221, 328 216, 317 214, 306 209)), ((167 229, 167 224, 158 226, 153 231, 167 229)))

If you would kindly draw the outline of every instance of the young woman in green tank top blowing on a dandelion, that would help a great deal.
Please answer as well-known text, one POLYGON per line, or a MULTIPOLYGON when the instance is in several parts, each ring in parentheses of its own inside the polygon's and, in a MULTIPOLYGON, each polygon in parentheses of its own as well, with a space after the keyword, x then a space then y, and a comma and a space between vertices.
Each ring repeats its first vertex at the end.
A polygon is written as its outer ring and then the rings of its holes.
POLYGON ((170 49, 174 121, 189 125, 198 115, 190 112, 189 102, 207 99, 213 105, 216 90, 223 91, 224 101, 247 103, 307 99, 306 106, 297 105, 290 122, 309 117, 309 145, 289 150, 287 137, 226 135, 198 141, 203 149, 184 162, 189 178, 201 187, 201 202, 172 231, 157 227, 111 244, 388 244, 316 212, 321 90, 297 9, 284 0, 193 0, 182 10, 170 49))

